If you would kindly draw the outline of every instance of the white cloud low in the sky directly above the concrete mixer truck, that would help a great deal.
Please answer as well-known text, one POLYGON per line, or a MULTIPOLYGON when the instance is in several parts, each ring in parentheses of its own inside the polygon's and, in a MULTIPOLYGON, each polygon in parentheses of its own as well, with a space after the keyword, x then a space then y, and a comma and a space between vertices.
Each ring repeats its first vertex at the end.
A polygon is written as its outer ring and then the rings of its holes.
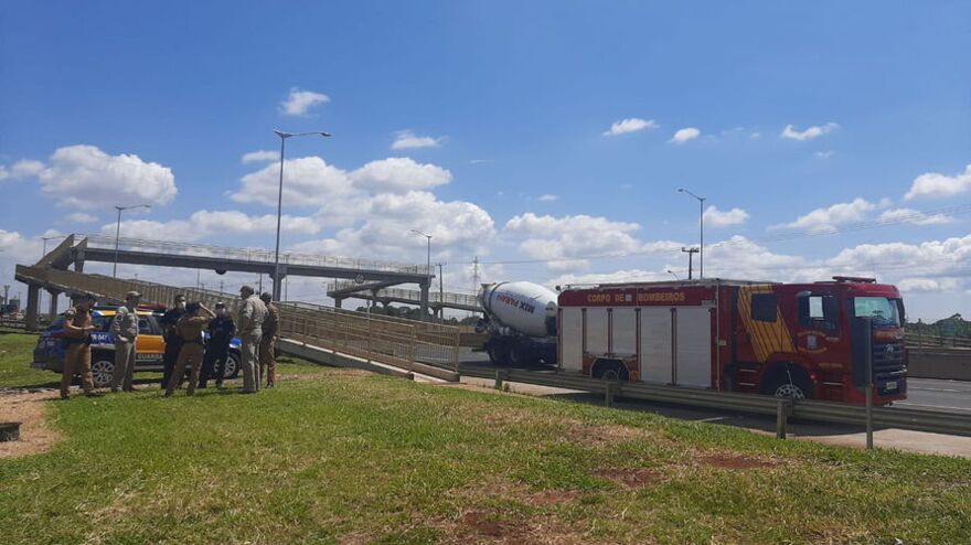
POLYGON ((533 259, 549 261, 551 268, 581 268, 585 256, 623 255, 638 252, 641 243, 631 236, 640 225, 612 222, 588 215, 554 217, 532 212, 506 222, 504 234, 520 238, 519 249, 533 259))

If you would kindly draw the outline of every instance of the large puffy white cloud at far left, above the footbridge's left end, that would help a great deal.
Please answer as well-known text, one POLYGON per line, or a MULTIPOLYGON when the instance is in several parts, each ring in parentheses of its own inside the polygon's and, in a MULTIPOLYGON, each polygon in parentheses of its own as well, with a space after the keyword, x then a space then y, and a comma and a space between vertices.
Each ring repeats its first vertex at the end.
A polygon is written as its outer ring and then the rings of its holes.
POLYGON ((94 146, 58 148, 50 164, 19 161, 17 175, 33 175, 58 204, 77 209, 106 205, 168 204, 175 197, 172 170, 138 156, 109 156, 94 146))

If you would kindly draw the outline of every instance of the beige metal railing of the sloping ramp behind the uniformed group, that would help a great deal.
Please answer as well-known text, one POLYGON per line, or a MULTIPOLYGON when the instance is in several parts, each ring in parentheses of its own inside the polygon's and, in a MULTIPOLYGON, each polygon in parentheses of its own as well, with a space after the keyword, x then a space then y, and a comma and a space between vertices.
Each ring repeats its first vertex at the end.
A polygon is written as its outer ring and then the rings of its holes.
MULTIPOLYGON (((177 295, 213 308, 224 301, 235 312, 242 300, 236 296, 195 288, 177 288, 143 280, 126 280, 70 270, 17 266, 18 277, 54 287, 65 292, 90 292, 120 302, 125 293, 137 290, 143 304, 168 306, 177 295)), ((409 368, 412 362, 426 362, 458 370, 458 328, 364 312, 332 309, 309 303, 277 302, 280 335, 291 336, 321 348, 337 349, 352 355, 409 368)))

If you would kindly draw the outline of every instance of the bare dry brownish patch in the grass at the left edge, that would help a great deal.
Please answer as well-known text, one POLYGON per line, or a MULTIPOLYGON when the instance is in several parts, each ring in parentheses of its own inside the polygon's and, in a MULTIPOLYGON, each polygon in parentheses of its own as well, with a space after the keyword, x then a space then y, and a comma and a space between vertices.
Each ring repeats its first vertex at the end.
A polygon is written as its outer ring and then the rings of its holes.
POLYGON ((61 434, 46 423, 46 402, 56 397, 53 391, 0 394, 0 421, 21 423, 20 440, 0 442, 0 458, 46 452, 61 440, 61 434))

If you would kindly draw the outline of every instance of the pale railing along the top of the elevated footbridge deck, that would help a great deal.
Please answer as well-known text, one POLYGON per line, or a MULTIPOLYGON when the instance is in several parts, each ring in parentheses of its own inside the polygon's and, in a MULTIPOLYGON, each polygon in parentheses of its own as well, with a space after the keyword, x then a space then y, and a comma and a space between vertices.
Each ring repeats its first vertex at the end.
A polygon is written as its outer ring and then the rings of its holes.
MULTIPOLYGON (((106 235, 73 235, 76 239, 87 239, 87 245, 99 249, 115 249, 115 237, 106 235)), ((186 244, 168 241, 149 241, 143 238, 118 238, 118 248, 129 252, 152 252, 186 256, 214 257, 243 261, 274 263, 275 254, 262 248, 228 248, 203 244, 186 244)), ((313 254, 281 253, 280 263, 286 265, 307 265, 312 267, 334 267, 346 269, 383 270, 387 272, 405 272, 429 275, 426 265, 408 265, 376 259, 358 259, 339 256, 318 256, 313 254)))

